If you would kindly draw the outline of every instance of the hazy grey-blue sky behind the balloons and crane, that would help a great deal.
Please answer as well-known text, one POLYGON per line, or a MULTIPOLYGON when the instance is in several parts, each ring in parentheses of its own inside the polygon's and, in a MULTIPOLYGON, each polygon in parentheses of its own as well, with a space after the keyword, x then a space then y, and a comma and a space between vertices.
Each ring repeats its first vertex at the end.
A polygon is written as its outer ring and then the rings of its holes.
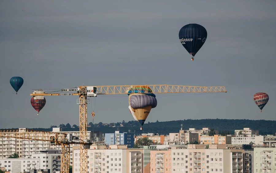
MULTIPOLYGON (((276 1, 0 2, 0 128, 79 124, 78 96, 46 96, 39 116, 30 89, 100 85, 225 86, 227 93, 157 94, 147 122, 275 120, 276 1), (195 60, 178 32, 208 36, 195 60), (18 94, 10 78, 21 76, 18 94), (270 96, 263 112, 256 92, 270 96)), ((94 123, 134 120, 127 95, 90 99, 94 123), (94 107, 95 105, 95 107, 94 107)), ((185 127, 184 127, 185 128, 185 127)))

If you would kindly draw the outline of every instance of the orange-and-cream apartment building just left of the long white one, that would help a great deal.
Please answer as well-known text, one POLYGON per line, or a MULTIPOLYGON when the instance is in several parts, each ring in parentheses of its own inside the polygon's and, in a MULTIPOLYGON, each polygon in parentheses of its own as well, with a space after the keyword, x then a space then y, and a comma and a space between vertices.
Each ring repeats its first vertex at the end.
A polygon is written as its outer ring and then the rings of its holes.
POLYGON ((200 144, 231 144, 231 136, 200 136, 200 144))

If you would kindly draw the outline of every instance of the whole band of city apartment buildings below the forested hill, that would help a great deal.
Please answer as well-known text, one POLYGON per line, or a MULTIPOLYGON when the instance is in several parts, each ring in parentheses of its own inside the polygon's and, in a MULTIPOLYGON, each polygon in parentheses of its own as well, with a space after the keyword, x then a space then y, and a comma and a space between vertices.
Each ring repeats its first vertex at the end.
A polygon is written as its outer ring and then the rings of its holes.
MULTIPOLYGON (((154 133, 134 136, 133 133, 120 131, 106 133, 102 138, 105 145, 98 143, 88 149, 88 173, 276 171, 276 136, 258 136, 259 131, 250 128, 235 130, 238 136, 208 136, 208 131, 209 128, 181 129, 179 133, 169 133, 167 136, 154 133), (132 148, 135 141, 144 137, 160 145, 132 148), (194 141, 199 144, 191 144, 194 141), (253 146, 248 145, 250 143, 253 146)), ((63 131, 61 128, 54 128, 53 132, 63 131)), ((79 135, 78 131, 64 133, 72 138, 79 135)), ((88 131, 89 140, 92 140, 91 134, 88 131)), ((19 170, 30 173, 33 170, 47 170, 54 173, 60 171, 60 151, 60 146, 47 141, 0 137, 0 167, 11 173, 19 170), (20 158, 8 159, 13 153, 19 154, 20 158)), ((79 146, 71 145, 70 165, 74 173, 80 172, 79 159, 79 146)))

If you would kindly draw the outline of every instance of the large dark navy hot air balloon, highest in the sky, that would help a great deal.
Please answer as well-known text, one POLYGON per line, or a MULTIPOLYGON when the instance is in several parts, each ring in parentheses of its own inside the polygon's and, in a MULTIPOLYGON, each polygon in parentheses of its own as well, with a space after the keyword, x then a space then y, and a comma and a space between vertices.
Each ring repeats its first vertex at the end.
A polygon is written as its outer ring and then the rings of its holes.
POLYGON ((193 56, 192 61, 194 61, 195 54, 205 43, 206 38, 206 29, 195 23, 185 25, 179 31, 179 40, 183 47, 193 56))

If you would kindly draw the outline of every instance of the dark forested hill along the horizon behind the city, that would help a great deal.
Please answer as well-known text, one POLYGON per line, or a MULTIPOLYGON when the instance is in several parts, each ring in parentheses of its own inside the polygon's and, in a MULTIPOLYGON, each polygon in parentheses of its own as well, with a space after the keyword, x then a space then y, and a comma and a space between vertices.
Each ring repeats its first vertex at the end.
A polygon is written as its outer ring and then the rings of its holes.
MULTIPOLYGON (((164 122, 148 122, 143 125, 143 131, 140 130, 140 124, 137 121, 128 121, 122 123, 110 123, 109 125, 102 123, 94 124, 94 131, 102 131, 103 133, 114 133, 117 129, 121 132, 128 132, 130 130, 132 133, 158 133, 159 135, 167 135, 169 133, 179 132, 183 124, 183 129, 196 128, 202 129, 205 127, 214 128, 219 132, 229 131, 234 134, 235 130, 243 128, 251 128, 253 130, 259 130, 260 135, 275 135, 276 132, 276 121, 271 120, 228 120, 228 119, 202 119, 202 120, 177 120, 177 121, 164 121, 164 122), (120 127, 123 124, 124 127, 120 127)), ((93 127, 93 124, 92 124, 93 127)), ((87 128, 88 131, 92 131, 92 127, 87 128)), ((33 130, 39 131, 52 131, 52 128, 32 128, 33 130)), ((4 130, 4 129, 1 129, 4 130)), ((63 131, 79 131, 79 128, 63 128, 63 131)))

